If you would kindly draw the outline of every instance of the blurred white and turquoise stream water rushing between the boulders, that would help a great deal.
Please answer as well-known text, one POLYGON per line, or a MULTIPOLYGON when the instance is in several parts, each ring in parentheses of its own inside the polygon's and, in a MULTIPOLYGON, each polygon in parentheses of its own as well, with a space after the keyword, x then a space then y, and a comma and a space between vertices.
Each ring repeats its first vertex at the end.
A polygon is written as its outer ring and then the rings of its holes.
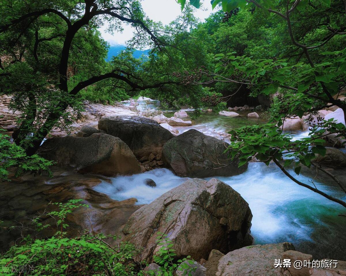
MULTIPOLYGON (((218 132, 244 126, 247 123, 264 123, 261 119, 242 117, 222 117, 204 113, 193 121, 192 127, 182 127, 182 133, 195 128, 206 135, 217 137, 218 132)), ((297 132, 295 139, 306 137, 308 133, 297 132)), ((289 241, 297 250, 312 254, 314 258, 334 258, 346 260, 346 219, 338 214, 345 208, 324 197, 295 184, 279 168, 270 164, 250 162, 245 173, 232 177, 217 177, 239 192, 249 203, 253 213, 251 232, 256 244, 289 241)), ((306 176, 299 180, 309 183, 306 176)), ((116 200, 129 197, 138 199, 138 204, 152 202, 158 196, 180 185, 188 178, 175 176, 168 169, 132 176, 111 178, 95 187, 116 200), (146 178, 153 179, 157 186, 144 184, 146 178)), ((328 183, 328 182, 327 182, 328 183)), ((322 191, 346 200, 333 185, 316 183, 322 191)))

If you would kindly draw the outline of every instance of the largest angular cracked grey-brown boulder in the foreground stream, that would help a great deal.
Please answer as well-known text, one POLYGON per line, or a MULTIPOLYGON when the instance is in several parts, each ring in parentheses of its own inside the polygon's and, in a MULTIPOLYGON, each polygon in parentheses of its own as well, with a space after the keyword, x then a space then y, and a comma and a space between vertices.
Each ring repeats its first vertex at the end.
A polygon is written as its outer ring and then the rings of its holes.
POLYGON ((228 252, 252 244, 252 213, 229 185, 212 178, 189 179, 142 206, 125 224, 124 241, 143 247, 148 261, 160 245, 158 233, 172 240, 176 258, 207 258, 212 249, 228 252))

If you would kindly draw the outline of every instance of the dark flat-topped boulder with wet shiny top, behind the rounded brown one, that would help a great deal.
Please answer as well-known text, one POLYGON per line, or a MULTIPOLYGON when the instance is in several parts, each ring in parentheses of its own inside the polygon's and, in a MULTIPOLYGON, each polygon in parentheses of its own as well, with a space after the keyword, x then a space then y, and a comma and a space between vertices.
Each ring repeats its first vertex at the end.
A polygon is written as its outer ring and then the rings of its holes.
POLYGON ((161 154, 165 142, 173 137, 154 120, 140 116, 102 117, 98 128, 123 140, 138 159, 161 154))

